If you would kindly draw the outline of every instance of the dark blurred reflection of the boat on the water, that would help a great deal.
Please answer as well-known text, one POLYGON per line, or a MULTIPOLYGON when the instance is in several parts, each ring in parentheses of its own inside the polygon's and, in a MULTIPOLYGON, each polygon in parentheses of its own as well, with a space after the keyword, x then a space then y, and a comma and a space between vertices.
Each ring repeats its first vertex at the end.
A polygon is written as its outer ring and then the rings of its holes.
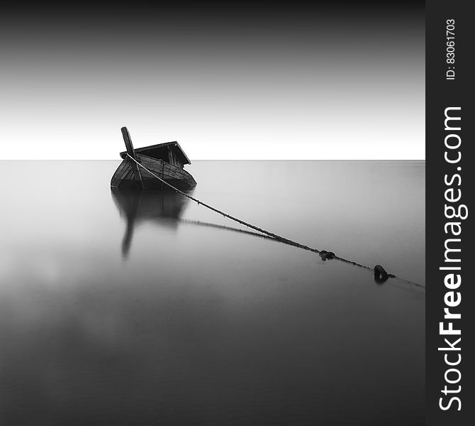
MULTIPOLYGON (((192 195, 193 190, 186 192, 192 195)), ((167 190, 134 190, 111 187, 111 194, 125 218, 125 234, 122 240, 122 255, 127 258, 132 243, 134 227, 143 222, 176 229, 189 199, 167 190)))

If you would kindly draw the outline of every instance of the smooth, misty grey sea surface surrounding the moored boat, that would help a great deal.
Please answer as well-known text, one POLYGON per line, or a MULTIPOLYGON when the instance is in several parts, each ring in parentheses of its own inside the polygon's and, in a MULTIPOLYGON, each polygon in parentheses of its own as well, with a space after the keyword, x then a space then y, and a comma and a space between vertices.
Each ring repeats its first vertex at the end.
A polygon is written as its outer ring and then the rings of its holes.
MULTIPOLYGON (((0 424, 417 425, 425 290, 118 161, 0 162, 0 424)), ((193 192, 425 284, 425 163, 196 161, 193 192)))

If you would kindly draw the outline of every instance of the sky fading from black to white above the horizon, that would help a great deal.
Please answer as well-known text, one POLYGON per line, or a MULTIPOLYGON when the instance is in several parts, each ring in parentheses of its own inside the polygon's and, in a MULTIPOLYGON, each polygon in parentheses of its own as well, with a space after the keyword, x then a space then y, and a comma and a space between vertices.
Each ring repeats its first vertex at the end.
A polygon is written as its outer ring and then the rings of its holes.
POLYGON ((424 159, 421 4, 1 9, 0 159, 424 159))

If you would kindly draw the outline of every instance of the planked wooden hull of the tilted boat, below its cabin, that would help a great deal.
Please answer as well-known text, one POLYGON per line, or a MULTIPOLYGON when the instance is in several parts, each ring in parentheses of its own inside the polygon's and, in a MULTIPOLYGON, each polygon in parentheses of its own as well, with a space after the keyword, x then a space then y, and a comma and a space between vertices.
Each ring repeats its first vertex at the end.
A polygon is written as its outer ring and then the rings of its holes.
MULTIPOLYGON (((194 180, 193 176, 177 165, 144 154, 136 153, 135 156, 138 162, 150 170, 150 172, 169 183, 169 185, 177 187, 179 190, 189 190, 196 186, 196 180, 194 180)), ((139 167, 139 169, 144 188, 160 188, 166 186, 144 168, 139 167)), ((136 186, 141 187, 142 185, 140 181, 135 178, 133 160, 125 158, 118 166, 116 173, 113 174, 111 187, 123 188, 136 186)))

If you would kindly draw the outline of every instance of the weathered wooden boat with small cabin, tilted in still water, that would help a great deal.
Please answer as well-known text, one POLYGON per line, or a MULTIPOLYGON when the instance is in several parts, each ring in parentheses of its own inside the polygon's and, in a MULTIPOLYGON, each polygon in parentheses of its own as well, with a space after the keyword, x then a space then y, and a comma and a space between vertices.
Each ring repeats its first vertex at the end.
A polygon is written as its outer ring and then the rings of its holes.
POLYGON ((166 186, 134 160, 179 190, 189 190, 196 185, 193 176, 184 170, 184 165, 191 164, 191 161, 178 142, 158 143, 134 149, 127 128, 123 127, 121 131, 127 151, 121 152, 123 161, 112 176, 111 187, 160 188, 166 186))

